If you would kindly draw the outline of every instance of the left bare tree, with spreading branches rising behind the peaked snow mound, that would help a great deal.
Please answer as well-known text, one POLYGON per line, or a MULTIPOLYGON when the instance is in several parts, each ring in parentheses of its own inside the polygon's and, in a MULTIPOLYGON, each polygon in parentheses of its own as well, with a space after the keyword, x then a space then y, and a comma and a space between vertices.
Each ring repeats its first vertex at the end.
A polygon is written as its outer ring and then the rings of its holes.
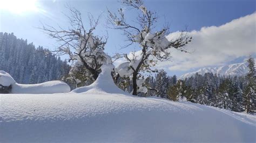
POLYGON ((90 28, 85 28, 81 13, 68 6, 70 16, 67 16, 70 22, 70 27, 64 29, 62 27, 55 28, 49 25, 43 25, 41 29, 50 36, 56 39, 59 43, 56 55, 69 55, 69 62, 78 62, 76 65, 82 66, 90 71, 94 80, 97 79, 100 73, 100 67, 104 63, 111 62, 109 55, 104 53, 104 46, 107 37, 99 37, 93 34, 99 22, 99 17, 94 19, 89 14, 90 28))

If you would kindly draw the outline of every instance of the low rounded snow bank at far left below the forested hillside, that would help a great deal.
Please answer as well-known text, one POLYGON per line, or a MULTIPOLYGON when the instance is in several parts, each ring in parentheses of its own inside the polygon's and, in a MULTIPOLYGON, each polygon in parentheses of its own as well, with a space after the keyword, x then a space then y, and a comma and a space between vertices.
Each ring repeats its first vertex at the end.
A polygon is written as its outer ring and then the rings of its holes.
POLYGON ((69 92, 70 87, 62 81, 49 81, 39 84, 19 84, 16 83, 10 74, 0 70, 0 84, 4 86, 12 85, 12 94, 53 94, 69 92))

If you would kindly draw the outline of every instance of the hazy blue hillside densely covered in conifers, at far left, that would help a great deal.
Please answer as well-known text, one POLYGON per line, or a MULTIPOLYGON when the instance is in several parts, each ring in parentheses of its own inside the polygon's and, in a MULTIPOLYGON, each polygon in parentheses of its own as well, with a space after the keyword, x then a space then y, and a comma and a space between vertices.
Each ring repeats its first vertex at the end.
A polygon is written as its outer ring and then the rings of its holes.
POLYGON ((0 70, 8 72, 18 83, 42 83, 59 80, 68 74, 70 66, 60 58, 45 54, 41 46, 35 48, 13 33, 0 32, 0 70))

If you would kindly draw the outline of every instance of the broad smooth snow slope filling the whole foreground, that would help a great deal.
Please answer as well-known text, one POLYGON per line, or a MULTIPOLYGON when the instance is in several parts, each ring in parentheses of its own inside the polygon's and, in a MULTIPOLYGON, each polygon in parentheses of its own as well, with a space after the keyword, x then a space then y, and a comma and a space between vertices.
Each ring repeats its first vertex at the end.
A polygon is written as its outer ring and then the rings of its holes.
POLYGON ((189 102, 96 92, 0 99, 0 142, 255 142, 255 116, 189 102))

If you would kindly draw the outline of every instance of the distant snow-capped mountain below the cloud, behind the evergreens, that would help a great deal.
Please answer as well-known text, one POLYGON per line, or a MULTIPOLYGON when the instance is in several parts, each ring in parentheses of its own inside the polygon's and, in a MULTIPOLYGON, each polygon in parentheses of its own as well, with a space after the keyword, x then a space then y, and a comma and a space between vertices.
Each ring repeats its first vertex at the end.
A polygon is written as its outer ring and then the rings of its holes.
POLYGON ((191 73, 186 73, 184 75, 181 75, 180 79, 194 76, 196 73, 200 75, 204 75, 205 73, 213 73, 213 74, 217 73, 220 75, 242 76, 248 73, 248 68, 247 68, 247 62, 234 63, 231 65, 225 65, 220 67, 205 67, 205 68, 200 68, 197 71, 193 71, 191 73))

